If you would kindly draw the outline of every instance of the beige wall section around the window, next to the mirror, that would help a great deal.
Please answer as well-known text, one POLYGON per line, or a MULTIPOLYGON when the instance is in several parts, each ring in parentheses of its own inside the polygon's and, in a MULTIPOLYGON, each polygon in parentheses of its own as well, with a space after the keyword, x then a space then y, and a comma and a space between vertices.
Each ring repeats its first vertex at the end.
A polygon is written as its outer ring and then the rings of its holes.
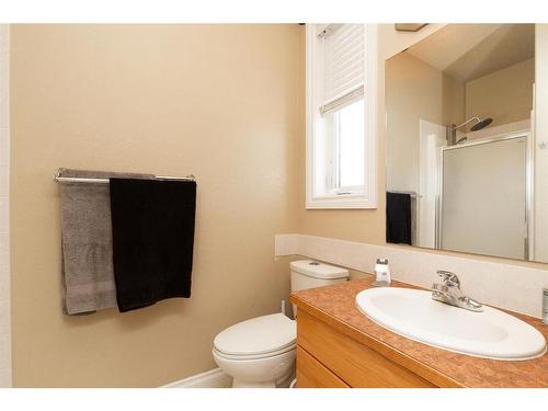
MULTIPOLYGON (((378 61, 378 204, 376 209, 311 209, 305 208, 305 122, 304 109, 301 106, 301 140, 300 140, 300 184, 299 190, 299 231, 300 233, 331 237, 350 241, 368 242, 373 244, 385 244, 385 183, 386 183, 386 133, 385 133, 385 60, 397 53, 404 50, 413 43, 442 28, 444 24, 432 24, 418 33, 399 33, 393 30, 393 24, 379 25, 379 61, 378 61)), ((301 44, 305 37, 301 36, 301 44)), ((301 56, 304 61, 304 56, 301 56)), ((301 76, 302 76, 301 71, 301 76)), ((304 94, 304 91, 301 91, 304 94)), ((548 264, 522 262, 517 260, 495 259, 473 254, 459 254, 447 251, 424 250, 436 254, 445 255, 467 255, 477 260, 507 262, 515 265, 524 265, 539 269, 547 269, 548 264)))

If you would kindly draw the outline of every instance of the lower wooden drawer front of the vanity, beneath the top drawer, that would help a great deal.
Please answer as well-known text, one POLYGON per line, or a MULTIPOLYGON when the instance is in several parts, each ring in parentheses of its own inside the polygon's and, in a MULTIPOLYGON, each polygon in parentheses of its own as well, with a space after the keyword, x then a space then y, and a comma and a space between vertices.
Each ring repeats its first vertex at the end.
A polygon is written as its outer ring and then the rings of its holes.
POLYGON ((300 346, 297 346, 297 387, 350 388, 341 378, 321 365, 300 346))

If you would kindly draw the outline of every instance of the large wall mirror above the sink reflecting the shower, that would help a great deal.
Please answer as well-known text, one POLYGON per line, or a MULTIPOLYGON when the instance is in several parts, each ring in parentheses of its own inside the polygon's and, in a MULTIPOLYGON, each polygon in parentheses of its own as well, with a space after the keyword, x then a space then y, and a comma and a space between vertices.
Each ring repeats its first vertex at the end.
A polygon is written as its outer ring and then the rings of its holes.
POLYGON ((448 24, 386 61, 387 242, 548 261, 536 57, 535 24, 448 24))

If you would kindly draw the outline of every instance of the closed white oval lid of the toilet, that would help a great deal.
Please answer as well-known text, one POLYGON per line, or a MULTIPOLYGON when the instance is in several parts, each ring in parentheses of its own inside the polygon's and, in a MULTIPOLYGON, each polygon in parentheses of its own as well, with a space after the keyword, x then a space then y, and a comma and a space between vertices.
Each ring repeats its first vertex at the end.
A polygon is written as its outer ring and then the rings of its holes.
POLYGON ((267 354, 295 344, 297 326, 283 313, 239 322, 215 338, 215 349, 230 355, 267 354))

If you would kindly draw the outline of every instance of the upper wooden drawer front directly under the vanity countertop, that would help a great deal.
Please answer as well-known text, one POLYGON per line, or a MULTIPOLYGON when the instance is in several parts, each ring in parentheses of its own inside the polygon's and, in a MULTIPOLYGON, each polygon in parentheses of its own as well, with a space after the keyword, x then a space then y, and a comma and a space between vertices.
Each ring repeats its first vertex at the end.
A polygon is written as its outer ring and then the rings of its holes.
POLYGON ((434 387, 305 310, 297 318, 297 343, 351 387, 434 387))

